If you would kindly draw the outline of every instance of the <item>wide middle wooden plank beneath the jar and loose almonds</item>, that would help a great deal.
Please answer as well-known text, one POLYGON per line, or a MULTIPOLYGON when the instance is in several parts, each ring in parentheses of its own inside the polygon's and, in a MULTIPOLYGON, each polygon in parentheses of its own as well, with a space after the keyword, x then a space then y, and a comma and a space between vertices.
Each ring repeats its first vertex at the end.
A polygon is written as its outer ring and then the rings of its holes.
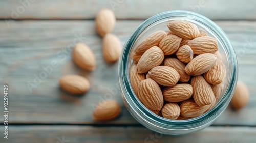
MULTIPOLYGON (((122 44, 140 20, 118 20, 114 30, 122 44)), ((215 125, 256 125, 256 22, 217 21, 231 40, 239 58, 239 80, 244 81, 251 97, 246 108, 233 111, 228 108, 215 125), (246 45, 246 43, 249 44, 246 45), (244 48, 246 45, 246 48, 244 48), (250 46, 251 45, 251 46, 250 46)), ((122 106, 119 118, 110 124, 139 124, 123 105, 118 87, 118 65, 105 63, 101 54, 102 39, 97 36, 94 21, 15 21, 10 27, 0 21, 0 85, 9 84, 10 123, 70 123, 99 124, 92 121, 93 108, 102 99, 116 99, 122 106), (97 59, 97 70, 86 72, 72 62, 67 47, 76 34, 92 48, 97 59), (67 51, 65 51, 67 50, 67 51), (58 54, 60 52, 61 56, 58 54), (29 91, 28 82, 34 74, 39 76, 42 67, 57 61, 47 78, 29 91), (90 91, 83 96, 71 96, 59 89, 61 75, 79 74, 89 79, 90 91), (112 91, 111 91, 111 90, 112 91)), ((72 47, 72 45, 70 45, 72 47)), ((72 49, 72 48, 71 48, 72 49)), ((0 98, 3 103, 3 98, 0 98)), ((3 123, 0 116, 0 123, 3 123)))

